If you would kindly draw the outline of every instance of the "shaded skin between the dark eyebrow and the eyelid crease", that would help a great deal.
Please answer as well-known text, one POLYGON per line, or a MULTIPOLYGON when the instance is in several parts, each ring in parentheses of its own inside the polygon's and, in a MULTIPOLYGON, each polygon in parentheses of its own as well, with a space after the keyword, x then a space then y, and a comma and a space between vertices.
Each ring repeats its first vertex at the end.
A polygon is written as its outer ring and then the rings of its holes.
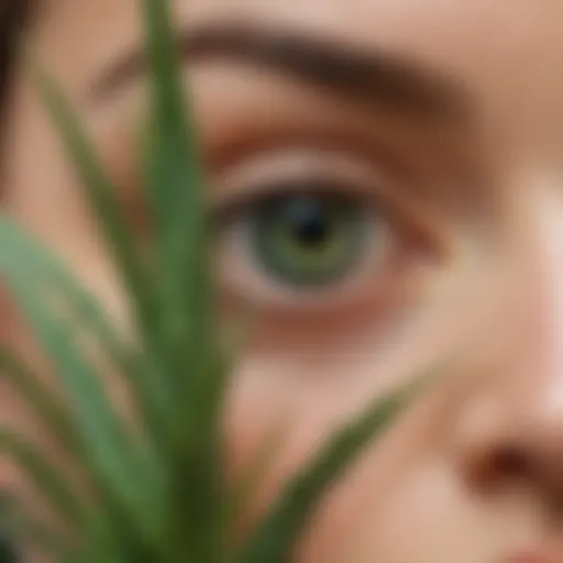
POLYGON ((418 174, 444 153, 442 143, 423 125, 385 112, 367 113, 357 106, 339 104, 322 92, 308 91, 256 69, 233 75, 221 64, 192 71, 195 110, 201 139, 213 168, 241 152, 268 145, 310 141, 311 144, 347 144, 364 154, 377 153, 397 173, 418 174), (231 90, 225 97, 222 92, 231 90))

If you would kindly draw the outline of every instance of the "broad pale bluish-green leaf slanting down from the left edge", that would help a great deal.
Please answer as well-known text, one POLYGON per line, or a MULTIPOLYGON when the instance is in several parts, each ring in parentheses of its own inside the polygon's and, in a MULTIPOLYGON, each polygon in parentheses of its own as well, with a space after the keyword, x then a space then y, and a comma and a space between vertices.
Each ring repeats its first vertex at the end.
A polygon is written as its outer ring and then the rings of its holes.
POLYGON ((156 487, 150 481, 140 444, 124 433, 113 411, 102 380, 79 353, 73 332, 62 319, 51 313, 46 299, 34 290, 31 282, 8 272, 5 283, 25 312, 38 342, 53 362, 54 371, 67 394, 77 430, 84 440, 84 453, 98 479, 96 485, 115 506, 122 507, 144 534, 153 537, 159 529, 156 512, 161 505, 156 487))

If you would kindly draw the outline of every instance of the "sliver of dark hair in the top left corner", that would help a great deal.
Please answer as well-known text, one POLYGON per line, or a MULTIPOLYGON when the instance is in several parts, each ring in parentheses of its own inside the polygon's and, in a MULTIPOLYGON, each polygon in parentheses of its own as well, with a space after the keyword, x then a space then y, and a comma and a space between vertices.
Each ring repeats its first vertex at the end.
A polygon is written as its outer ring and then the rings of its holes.
POLYGON ((31 0, 0 0, 0 109, 10 86, 15 51, 30 4, 31 0))

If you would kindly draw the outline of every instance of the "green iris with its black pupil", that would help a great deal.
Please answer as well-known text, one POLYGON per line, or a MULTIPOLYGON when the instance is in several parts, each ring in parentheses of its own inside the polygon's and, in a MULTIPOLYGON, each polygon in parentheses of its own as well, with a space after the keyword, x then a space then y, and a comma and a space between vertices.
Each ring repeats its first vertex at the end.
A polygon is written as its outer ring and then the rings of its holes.
POLYGON ((251 251, 278 282, 319 287, 345 277, 361 261, 372 218, 365 206, 335 196, 283 196, 247 217, 251 251))

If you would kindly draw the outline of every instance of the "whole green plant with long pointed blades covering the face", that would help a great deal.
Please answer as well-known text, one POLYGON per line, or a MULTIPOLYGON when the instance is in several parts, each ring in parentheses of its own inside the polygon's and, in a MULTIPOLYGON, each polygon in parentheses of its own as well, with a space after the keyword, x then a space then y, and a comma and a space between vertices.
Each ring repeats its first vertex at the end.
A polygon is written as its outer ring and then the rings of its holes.
MULTIPOLYGON (((109 318, 48 249, 9 217, 0 218, 0 276, 49 357, 59 395, 7 349, 0 374, 32 406, 87 484, 70 484, 23 437, 0 429, 9 455, 47 500, 51 521, 11 506, 5 533, 35 542, 53 561, 96 563, 282 563, 323 494, 417 391, 375 401, 338 432, 287 484, 242 547, 227 541, 236 495, 223 475, 221 412, 232 354, 219 344, 205 170, 187 109, 167 3, 143 0, 152 107, 144 199, 151 253, 136 240, 115 190, 57 87, 37 87, 76 165, 129 297, 134 338, 109 318), (113 407, 78 336, 95 341, 122 378, 134 423, 113 407)), ((2 561, 10 553, 0 554, 2 561)))

